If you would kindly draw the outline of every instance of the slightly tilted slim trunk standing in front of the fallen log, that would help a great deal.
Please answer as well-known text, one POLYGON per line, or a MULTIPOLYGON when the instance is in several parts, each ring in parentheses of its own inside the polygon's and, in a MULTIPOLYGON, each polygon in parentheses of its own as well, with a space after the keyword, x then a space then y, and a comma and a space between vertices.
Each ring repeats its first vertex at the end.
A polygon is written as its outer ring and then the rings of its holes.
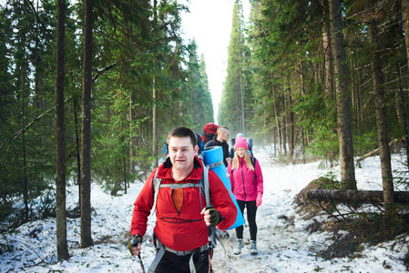
POLYGON ((392 176, 391 152, 389 148, 388 124, 383 91, 382 64, 378 49, 378 25, 375 19, 368 21, 369 41, 372 45, 373 93, 376 112, 376 126, 378 129, 379 156, 381 157, 381 171, 383 181, 383 200, 386 217, 392 213, 394 204, 394 181, 392 176))

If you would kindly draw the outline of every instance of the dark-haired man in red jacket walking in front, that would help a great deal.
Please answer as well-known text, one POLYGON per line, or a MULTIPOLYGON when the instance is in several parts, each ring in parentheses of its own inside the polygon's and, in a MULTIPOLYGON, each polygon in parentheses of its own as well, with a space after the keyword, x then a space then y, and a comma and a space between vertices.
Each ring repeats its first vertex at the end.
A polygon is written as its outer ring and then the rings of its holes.
POLYGON ((237 208, 212 170, 209 170, 212 207, 206 207, 199 187, 204 167, 197 157, 199 147, 192 130, 174 128, 168 135, 168 147, 169 157, 150 174, 134 203, 130 232, 138 244, 128 248, 133 256, 138 256, 153 207, 157 215, 154 239, 158 252, 149 271, 210 272, 208 227, 230 227, 236 220, 237 208), (153 188, 155 177, 161 181, 157 197, 153 188))

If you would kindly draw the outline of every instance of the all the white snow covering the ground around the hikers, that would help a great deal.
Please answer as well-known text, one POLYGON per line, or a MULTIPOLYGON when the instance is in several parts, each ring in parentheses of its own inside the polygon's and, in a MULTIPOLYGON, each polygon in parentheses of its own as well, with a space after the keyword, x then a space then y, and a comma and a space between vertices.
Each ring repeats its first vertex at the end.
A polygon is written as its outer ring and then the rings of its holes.
MULTIPOLYGON (((315 253, 331 244, 331 234, 306 231, 312 221, 295 214, 292 200, 303 187, 313 179, 327 175, 330 169, 320 168, 318 162, 283 166, 274 163, 262 149, 256 150, 255 156, 261 162, 264 177, 263 204, 257 216, 260 253, 258 256, 250 255, 250 233, 245 227, 245 247, 240 255, 232 254, 236 239, 235 231, 230 230, 230 238, 223 239, 226 253, 220 246, 215 250, 212 259, 215 272, 405 271, 402 259, 408 251, 407 246, 392 248, 393 243, 363 246, 363 258, 319 258, 315 253)), ((400 160, 400 156, 394 156, 394 169, 402 168, 400 160)), ((332 171, 339 173, 339 167, 332 171)), ((362 168, 355 171, 359 189, 382 189, 379 157, 365 159, 362 168)), ((127 195, 111 197, 93 185, 91 204, 95 211, 92 214, 92 233, 96 244, 91 248, 79 248, 79 219, 68 218, 67 239, 72 256, 69 260, 57 262, 54 218, 27 223, 2 234, 0 272, 141 272, 138 258, 132 258, 127 248, 133 202, 141 187, 140 183, 132 184, 127 195)), ((67 207, 74 207, 77 190, 76 187, 69 189, 67 207)), ((153 223, 154 217, 150 217, 148 235, 153 223)), ((148 271, 154 258, 154 248, 148 239, 143 243, 141 258, 148 271)))

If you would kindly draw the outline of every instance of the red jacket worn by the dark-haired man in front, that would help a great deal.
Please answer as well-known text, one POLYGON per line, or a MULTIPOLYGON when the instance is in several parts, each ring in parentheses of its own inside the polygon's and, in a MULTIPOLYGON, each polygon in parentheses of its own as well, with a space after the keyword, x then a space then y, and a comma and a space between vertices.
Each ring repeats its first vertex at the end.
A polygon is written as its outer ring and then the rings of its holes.
MULTIPOLYGON (((197 157, 194 160, 193 171, 185 179, 186 183, 200 183, 203 164, 197 157)), ((162 184, 175 183, 171 176, 171 167, 169 158, 158 167, 157 177, 162 179, 162 184)), ((132 236, 138 234, 143 237, 147 231, 148 216, 154 201, 153 178, 155 173, 156 170, 150 174, 134 203, 130 228, 132 236)), ((220 212, 221 217, 225 218, 218 227, 220 229, 231 227, 236 221, 237 208, 228 190, 212 170, 209 170, 209 182, 211 203, 220 212)), ((179 212, 173 204, 170 187, 160 188, 156 208, 157 222, 154 228, 160 242, 178 251, 188 251, 206 245, 208 228, 203 216, 200 215, 203 207, 206 207, 206 199, 201 194, 199 187, 184 188, 183 205, 179 212)))

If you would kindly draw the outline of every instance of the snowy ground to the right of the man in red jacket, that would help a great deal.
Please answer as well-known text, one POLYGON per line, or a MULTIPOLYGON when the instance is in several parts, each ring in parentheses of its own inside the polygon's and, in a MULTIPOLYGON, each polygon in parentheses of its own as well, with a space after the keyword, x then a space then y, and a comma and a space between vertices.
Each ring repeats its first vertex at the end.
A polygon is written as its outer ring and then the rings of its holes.
MULTIPOLYGON (((217 272, 397 272, 405 271, 403 262, 407 247, 390 250, 389 244, 363 250, 363 258, 335 258, 324 260, 315 253, 327 248, 331 241, 327 232, 310 233, 306 221, 295 213, 293 198, 313 179, 329 171, 319 168, 319 163, 296 166, 272 164, 266 153, 255 154, 261 162, 264 178, 263 204, 257 212, 257 257, 250 255, 250 232, 246 227, 244 238, 248 244, 240 255, 232 254, 235 238, 225 243, 226 257, 217 249, 213 265, 217 272)), ((399 157, 396 157, 399 158, 399 157)), ((397 164, 397 161, 394 161, 397 164)), ((360 189, 382 189, 379 157, 367 159, 363 168, 356 170, 360 189), (376 181, 374 183, 374 181, 376 181)), ((325 216, 323 216, 325 217, 325 216)), ((234 231, 230 235, 235 235, 234 231)))

